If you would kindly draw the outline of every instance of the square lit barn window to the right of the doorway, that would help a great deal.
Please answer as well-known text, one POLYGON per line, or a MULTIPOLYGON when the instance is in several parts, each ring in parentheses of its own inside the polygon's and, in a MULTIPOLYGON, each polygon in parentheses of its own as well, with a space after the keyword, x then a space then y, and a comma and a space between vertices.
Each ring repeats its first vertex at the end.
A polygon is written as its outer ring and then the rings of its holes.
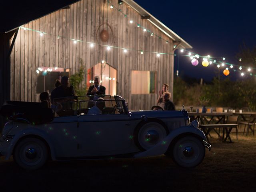
POLYGON ((156 71, 132 71, 132 94, 150 94, 156 90, 156 71))

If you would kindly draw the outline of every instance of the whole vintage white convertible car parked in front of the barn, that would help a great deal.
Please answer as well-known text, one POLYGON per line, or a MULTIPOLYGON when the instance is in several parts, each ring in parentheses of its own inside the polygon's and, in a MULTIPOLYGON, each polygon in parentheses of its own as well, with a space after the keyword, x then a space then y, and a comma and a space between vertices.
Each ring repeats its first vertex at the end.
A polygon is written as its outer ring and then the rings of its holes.
POLYGON ((38 169, 47 160, 140 158, 165 154, 182 167, 195 167, 209 150, 198 121, 186 110, 128 110, 120 96, 104 98, 102 114, 88 110, 99 96, 57 102, 54 109, 40 103, 6 102, 8 118, 0 137, 0 156, 25 169, 38 169))

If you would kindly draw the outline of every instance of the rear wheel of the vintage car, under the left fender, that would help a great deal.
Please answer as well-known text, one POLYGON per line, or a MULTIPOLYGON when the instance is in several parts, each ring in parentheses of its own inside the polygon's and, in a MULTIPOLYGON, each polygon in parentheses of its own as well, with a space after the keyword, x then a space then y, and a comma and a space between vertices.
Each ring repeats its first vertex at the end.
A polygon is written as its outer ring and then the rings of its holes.
POLYGON ((20 167, 35 170, 46 163, 48 149, 46 144, 38 138, 24 138, 15 147, 13 158, 20 167))

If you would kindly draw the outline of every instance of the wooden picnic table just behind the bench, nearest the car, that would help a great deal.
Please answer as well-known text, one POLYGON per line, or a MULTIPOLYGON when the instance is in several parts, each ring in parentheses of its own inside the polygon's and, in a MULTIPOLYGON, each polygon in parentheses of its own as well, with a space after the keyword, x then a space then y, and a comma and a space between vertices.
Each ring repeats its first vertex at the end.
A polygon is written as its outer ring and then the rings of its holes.
POLYGON ((231 112, 206 112, 206 113, 197 113, 197 112, 188 112, 188 116, 194 116, 194 119, 198 120, 200 124, 212 124, 214 117, 218 119, 216 124, 223 122, 225 124, 225 117, 232 115, 231 112), (207 118, 209 117, 209 118, 207 118))

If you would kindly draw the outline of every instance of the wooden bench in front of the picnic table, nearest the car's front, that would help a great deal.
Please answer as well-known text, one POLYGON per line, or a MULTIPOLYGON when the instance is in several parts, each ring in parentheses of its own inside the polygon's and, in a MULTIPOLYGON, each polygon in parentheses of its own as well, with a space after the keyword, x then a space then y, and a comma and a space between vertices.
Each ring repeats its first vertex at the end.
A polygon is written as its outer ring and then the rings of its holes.
MULTIPOLYGON (((230 138, 230 132, 232 130, 232 128, 236 128, 237 129, 238 124, 209 124, 209 125, 199 125, 199 128, 204 132, 208 142, 209 138, 208 138, 208 134, 210 133, 210 131, 214 128, 222 128, 223 129, 223 134, 222 134, 222 141, 226 142, 227 139, 229 140, 229 142, 232 142, 231 138, 230 138), (226 134, 226 136, 225 136, 226 134)), ((220 134, 215 131, 219 137, 220 134)))

